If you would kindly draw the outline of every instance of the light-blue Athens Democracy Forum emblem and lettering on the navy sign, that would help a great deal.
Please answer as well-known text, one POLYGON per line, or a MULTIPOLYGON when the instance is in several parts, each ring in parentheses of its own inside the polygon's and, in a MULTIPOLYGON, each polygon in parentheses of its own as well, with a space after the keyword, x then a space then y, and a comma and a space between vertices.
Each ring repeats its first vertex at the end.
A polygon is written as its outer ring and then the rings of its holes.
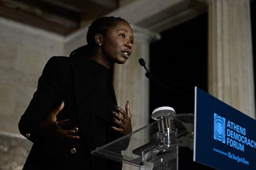
POLYGON ((213 139, 244 152, 244 145, 256 148, 256 142, 246 137, 246 129, 214 113, 213 139), (226 124, 227 123, 227 124, 226 124))

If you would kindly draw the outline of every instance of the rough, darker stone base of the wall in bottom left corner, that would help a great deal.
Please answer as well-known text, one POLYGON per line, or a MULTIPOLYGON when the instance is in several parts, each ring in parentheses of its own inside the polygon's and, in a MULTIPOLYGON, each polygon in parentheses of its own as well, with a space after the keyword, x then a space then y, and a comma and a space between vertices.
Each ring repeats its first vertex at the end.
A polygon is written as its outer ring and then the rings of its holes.
POLYGON ((0 133, 0 170, 22 170, 31 147, 21 135, 0 133))

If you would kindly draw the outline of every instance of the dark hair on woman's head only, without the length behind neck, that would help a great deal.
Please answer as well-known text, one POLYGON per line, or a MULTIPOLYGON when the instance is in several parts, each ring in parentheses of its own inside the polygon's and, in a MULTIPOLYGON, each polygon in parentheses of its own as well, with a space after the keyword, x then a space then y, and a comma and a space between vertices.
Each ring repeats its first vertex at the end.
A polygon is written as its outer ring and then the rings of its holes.
MULTIPOLYGON (((101 34, 104 35, 109 28, 116 26, 116 23, 124 21, 128 23, 126 20, 121 17, 100 17, 93 21, 93 23, 89 26, 87 31, 86 40, 88 45, 96 45, 95 35, 101 34)), ((129 23, 128 23, 129 24, 129 23)))

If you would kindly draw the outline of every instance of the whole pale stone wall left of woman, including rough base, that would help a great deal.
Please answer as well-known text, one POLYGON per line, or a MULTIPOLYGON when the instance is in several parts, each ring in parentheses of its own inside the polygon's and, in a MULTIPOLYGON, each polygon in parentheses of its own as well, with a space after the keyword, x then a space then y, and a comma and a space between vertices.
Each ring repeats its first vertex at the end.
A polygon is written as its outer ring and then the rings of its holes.
MULTIPOLYGON (((0 17, 0 170, 20 170, 32 143, 18 122, 52 56, 86 44, 87 28, 67 37, 0 17)), ((40 108, 38 108, 40 109, 40 108)))

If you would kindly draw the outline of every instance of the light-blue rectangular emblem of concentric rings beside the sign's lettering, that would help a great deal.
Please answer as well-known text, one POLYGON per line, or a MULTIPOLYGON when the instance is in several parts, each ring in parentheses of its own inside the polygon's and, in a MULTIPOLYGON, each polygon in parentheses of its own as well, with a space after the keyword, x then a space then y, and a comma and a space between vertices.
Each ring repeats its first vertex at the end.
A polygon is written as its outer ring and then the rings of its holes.
POLYGON ((226 119, 214 113, 214 139, 225 143, 225 122, 226 119))

